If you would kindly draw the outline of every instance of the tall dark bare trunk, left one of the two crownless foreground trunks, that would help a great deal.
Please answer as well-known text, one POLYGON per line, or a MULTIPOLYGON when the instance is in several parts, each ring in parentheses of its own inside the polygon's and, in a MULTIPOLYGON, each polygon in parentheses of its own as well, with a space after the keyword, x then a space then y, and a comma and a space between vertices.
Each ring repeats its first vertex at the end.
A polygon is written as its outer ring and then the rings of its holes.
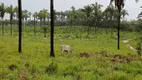
POLYGON ((22 5, 21 0, 18 0, 18 13, 19 13, 19 42, 18 42, 18 52, 22 52, 22 5))

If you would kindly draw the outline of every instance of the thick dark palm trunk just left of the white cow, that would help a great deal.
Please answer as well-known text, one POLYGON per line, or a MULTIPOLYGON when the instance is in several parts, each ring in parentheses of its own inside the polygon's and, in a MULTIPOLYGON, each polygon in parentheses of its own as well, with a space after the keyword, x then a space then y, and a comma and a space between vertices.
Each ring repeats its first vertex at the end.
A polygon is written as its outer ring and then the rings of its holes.
POLYGON ((50 16, 51 16, 51 34, 50 34, 50 56, 55 57, 54 54, 54 1, 50 0, 50 16))

